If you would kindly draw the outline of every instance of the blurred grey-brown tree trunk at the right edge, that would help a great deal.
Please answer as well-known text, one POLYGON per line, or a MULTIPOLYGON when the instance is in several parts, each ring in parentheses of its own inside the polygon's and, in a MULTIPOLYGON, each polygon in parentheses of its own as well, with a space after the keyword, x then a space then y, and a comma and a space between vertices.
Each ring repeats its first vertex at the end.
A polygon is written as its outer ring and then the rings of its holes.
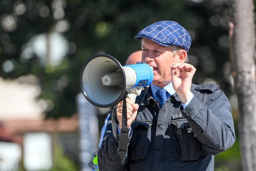
POLYGON ((256 171, 256 76, 253 0, 230 0, 230 60, 238 97, 244 171, 256 171))

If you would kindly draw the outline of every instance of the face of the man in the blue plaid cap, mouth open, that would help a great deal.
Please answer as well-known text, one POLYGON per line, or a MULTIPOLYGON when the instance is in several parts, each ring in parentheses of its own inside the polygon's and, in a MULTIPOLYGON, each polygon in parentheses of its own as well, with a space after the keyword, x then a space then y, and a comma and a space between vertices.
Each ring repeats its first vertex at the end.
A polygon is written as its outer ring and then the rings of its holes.
POLYGON ((164 87, 171 82, 170 64, 181 62, 179 56, 170 47, 161 46, 151 40, 142 41, 142 60, 153 67, 154 80, 152 84, 164 87))

